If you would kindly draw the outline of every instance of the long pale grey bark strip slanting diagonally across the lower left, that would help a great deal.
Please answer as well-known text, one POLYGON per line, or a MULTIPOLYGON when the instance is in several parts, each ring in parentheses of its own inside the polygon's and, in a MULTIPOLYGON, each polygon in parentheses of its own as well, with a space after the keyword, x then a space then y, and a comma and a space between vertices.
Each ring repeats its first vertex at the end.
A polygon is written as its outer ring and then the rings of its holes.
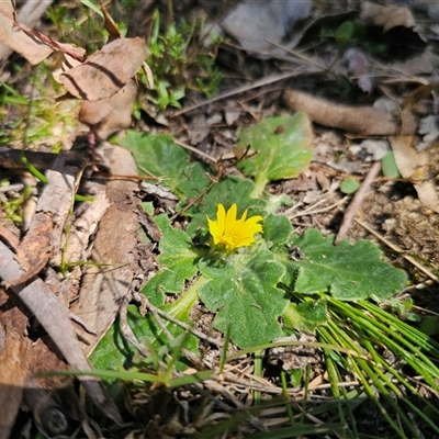
MULTIPOLYGON (((8 282, 23 274, 24 272, 14 259, 13 252, 0 241, 0 278, 8 282)), ((70 368, 83 371, 91 370, 91 364, 82 352, 70 322, 68 309, 52 293, 43 280, 37 278, 29 285, 14 285, 12 290, 47 331, 70 368)), ((121 423, 119 410, 100 379, 87 375, 80 375, 78 379, 102 413, 116 423, 121 423)))

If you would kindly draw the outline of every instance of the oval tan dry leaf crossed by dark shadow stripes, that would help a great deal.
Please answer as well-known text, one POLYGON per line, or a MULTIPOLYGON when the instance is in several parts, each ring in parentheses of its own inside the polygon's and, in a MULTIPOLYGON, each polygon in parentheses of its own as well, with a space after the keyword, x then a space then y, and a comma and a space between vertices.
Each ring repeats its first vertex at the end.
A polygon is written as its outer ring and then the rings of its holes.
POLYGON ((147 52, 143 38, 115 40, 81 66, 63 74, 59 80, 78 99, 108 99, 134 77, 146 59, 147 52))

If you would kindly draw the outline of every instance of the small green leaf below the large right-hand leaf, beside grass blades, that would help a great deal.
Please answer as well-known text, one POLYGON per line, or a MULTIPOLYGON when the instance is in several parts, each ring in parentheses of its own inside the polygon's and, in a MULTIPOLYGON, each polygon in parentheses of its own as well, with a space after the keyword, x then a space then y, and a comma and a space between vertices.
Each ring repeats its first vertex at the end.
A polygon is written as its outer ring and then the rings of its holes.
POLYGON ((299 305, 289 303, 282 318, 285 328, 295 328, 313 334, 318 326, 325 325, 328 320, 326 301, 309 300, 299 305))

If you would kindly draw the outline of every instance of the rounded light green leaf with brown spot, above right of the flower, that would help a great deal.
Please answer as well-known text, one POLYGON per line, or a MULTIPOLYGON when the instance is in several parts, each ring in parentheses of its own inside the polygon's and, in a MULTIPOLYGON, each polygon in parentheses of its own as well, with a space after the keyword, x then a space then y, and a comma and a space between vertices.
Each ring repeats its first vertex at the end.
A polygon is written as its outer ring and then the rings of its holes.
POLYGON ((239 133, 237 155, 250 145, 249 157, 238 164, 247 176, 255 177, 254 195, 262 193, 267 182, 297 177, 313 157, 309 120, 304 113, 269 117, 239 133))

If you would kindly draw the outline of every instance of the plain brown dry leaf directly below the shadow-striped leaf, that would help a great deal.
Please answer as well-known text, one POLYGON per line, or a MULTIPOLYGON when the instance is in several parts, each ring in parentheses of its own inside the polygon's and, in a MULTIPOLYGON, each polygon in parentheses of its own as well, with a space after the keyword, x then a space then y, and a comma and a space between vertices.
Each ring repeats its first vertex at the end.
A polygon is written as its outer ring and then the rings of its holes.
POLYGON ((131 125, 133 104, 137 86, 133 80, 109 99, 82 101, 79 120, 89 125, 100 139, 105 140, 113 133, 131 125))

